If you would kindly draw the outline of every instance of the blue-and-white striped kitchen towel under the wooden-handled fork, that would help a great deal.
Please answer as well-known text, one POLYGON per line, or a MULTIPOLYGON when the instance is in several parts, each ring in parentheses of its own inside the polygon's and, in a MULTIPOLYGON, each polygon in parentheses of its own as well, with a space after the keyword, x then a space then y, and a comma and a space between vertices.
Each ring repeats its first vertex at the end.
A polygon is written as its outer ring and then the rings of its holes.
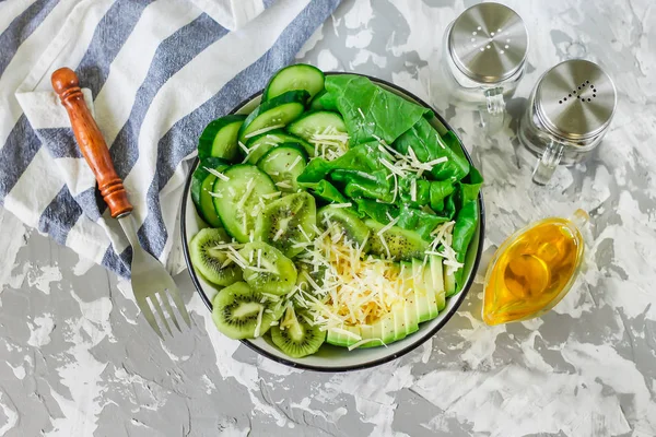
POLYGON ((200 132, 293 62, 338 2, 0 3, 0 204, 81 256, 129 275, 128 241, 98 199, 50 88, 52 71, 70 67, 87 88, 134 204, 142 246, 178 272, 176 218, 200 132))

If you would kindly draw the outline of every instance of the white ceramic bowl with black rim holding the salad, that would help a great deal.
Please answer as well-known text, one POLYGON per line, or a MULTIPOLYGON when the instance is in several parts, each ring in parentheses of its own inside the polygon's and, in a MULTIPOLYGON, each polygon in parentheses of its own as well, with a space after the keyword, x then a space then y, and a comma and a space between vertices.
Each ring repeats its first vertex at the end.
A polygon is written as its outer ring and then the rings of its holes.
MULTIPOLYGON (((331 74, 331 73, 327 73, 327 74, 331 74)), ((335 73, 332 73, 332 74, 335 74, 335 73)), ((435 127, 435 129, 437 129, 437 131, 441 134, 447 132, 448 130, 453 130, 447 125, 447 122, 440 115, 437 115, 437 113, 433 108, 431 108, 429 105, 426 105, 424 102, 422 102, 417 96, 412 95, 411 93, 409 93, 391 83, 385 82, 383 80, 371 78, 371 76, 368 79, 372 82, 383 86, 386 90, 391 91, 395 94, 398 94, 398 95, 407 98, 410 102, 414 102, 421 106, 424 106, 424 107, 433 110, 433 113, 435 114, 435 117, 433 117, 433 119, 430 121, 431 121, 431 125, 433 125, 433 127, 435 127)), ((241 105, 238 105, 231 114, 249 114, 250 111, 253 111, 253 109, 255 109, 257 107, 257 105, 259 105, 260 99, 261 99, 261 92, 247 98, 245 102, 243 102, 241 105)), ((464 152, 465 152, 465 155, 467 156, 467 160, 470 162, 470 164, 472 164, 471 157, 469 156, 467 151, 464 150, 464 152)), ((204 222, 200 218, 198 213, 196 212, 196 208, 194 206, 194 202, 191 201, 191 193, 190 193, 190 189, 189 189, 190 185, 191 185, 191 173, 194 172, 194 169, 196 169, 197 165, 198 165, 198 160, 196 160, 196 162, 194 163, 192 169, 189 173, 189 176, 187 177, 187 182, 185 185, 185 191, 184 191, 183 203, 181 203, 181 220, 180 220, 181 238, 183 238, 183 247, 184 247, 184 251, 185 251, 185 259, 187 261, 187 267, 189 268, 189 274, 191 275, 191 281, 196 285, 196 290, 200 294, 200 297, 203 299, 203 302, 208 306, 208 309, 211 311, 212 310, 212 299, 216 295, 219 290, 211 283, 207 282, 200 274, 198 274, 196 272, 196 270, 194 269, 194 265, 191 264, 190 258, 189 258, 189 248, 188 248, 188 241, 191 239, 191 237, 194 235, 196 235, 196 233, 199 229, 207 226, 204 224, 204 222)), ((467 279, 465 287, 459 294, 452 296, 450 298, 448 298, 446 300, 446 308, 442 312, 440 312, 440 316, 437 316, 437 318, 426 321, 424 323, 421 323, 419 327, 419 331, 414 332, 413 334, 407 336, 403 340, 388 344, 387 347, 379 346, 379 347, 356 349, 353 351, 349 351, 345 347, 337 347, 337 346, 332 346, 330 344, 325 343, 316 354, 306 356, 303 358, 291 358, 291 357, 286 356, 284 353, 279 351, 270 342, 270 340, 265 339, 265 338, 259 338, 259 339, 255 339, 255 340, 243 340, 242 342, 244 344, 246 344, 247 346, 249 346, 250 349, 253 349, 254 351, 256 351, 271 359, 274 359, 279 363, 283 363, 283 364, 286 364, 292 367, 298 367, 298 368, 305 368, 305 369, 318 370, 318 371, 345 371, 345 370, 362 369, 362 368, 366 368, 366 367, 376 366, 376 365, 379 365, 383 363, 387 363, 391 359, 398 358, 399 356, 407 354, 408 352, 412 351, 413 349, 415 349, 417 346, 419 346, 420 344, 422 344, 423 342, 429 340, 431 336, 433 336, 448 321, 448 319, 450 319, 450 317, 456 312, 456 310, 460 306, 460 303, 465 299, 465 296, 467 295, 467 292, 469 291, 469 287, 471 286, 471 283, 473 282, 473 276, 476 274, 476 271, 478 269, 478 264, 479 264, 479 261, 481 258, 481 252, 482 252, 481 241, 483 240, 484 223, 485 223, 485 214, 484 214, 482 194, 479 194, 478 201, 479 201, 479 206, 480 206, 479 208, 479 211, 480 211, 479 226, 478 226, 478 229, 471 240, 471 244, 469 245, 469 249, 467 251, 467 257, 465 259, 465 267, 464 267, 465 276, 464 277, 467 279)))

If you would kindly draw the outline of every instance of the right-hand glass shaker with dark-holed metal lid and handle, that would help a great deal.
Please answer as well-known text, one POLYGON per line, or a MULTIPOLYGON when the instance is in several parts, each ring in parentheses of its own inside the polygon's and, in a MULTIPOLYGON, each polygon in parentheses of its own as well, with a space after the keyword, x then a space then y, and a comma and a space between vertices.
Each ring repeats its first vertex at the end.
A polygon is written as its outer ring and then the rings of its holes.
POLYGON ((546 185, 559 163, 586 161, 608 131, 616 106, 614 84, 596 63, 572 59, 547 71, 519 122, 519 140, 540 156, 534 182, 546 185))

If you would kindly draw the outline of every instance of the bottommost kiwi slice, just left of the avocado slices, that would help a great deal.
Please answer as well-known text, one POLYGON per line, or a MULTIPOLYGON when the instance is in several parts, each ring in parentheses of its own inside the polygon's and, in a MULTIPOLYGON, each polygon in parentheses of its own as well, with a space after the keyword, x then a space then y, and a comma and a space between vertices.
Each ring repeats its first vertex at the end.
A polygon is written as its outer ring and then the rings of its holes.
POLYGON ((318 324, 311 324, 312 317, 305 311, 294 311, 288 307, 280 324, 271 327, 271 340, 283 353, 292 358, 312 355, 326 341, 326 331, 318 324))

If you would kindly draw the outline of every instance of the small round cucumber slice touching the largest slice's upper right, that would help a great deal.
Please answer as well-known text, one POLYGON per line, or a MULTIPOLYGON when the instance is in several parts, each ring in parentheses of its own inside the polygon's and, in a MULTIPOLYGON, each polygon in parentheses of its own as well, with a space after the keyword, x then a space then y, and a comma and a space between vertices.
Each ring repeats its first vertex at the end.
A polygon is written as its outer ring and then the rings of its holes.
POLYGON ((282 143, 271 149, 258 162, 260 170, 271 176, 280 191, 296 192, 296 178, 307 165, 307 155, 296 143, 282 143))

